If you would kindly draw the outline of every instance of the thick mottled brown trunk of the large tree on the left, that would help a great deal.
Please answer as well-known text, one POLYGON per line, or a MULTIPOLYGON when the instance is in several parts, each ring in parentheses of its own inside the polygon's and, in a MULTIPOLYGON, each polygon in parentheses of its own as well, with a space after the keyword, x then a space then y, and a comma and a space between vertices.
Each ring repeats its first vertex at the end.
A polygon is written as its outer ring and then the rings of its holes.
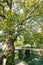
MULTIPOLYGON (((14 43, 12 41, 12 35, 8 34, 6 38, 6 47, 3 53, 3 59, 7 59, 5 65, 13 65, 14 64, 14 43)), ((4 62, 3 62, 4 63, 4 62)))

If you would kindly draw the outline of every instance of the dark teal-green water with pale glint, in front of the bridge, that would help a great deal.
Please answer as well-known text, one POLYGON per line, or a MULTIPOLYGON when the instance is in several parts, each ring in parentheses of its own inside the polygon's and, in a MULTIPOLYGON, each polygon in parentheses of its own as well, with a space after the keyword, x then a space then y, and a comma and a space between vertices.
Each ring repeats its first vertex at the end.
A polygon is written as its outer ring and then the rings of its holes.
POLYGON ((43 65, 43 57, 31 57, 29 59, 25 59, 25 61, 28 63, 28 65, 43 65))

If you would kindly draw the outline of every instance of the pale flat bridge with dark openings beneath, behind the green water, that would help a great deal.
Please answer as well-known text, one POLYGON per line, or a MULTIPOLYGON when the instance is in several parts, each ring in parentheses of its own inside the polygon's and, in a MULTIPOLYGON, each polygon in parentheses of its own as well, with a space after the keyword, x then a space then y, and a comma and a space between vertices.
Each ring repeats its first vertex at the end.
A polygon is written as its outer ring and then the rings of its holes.
MULTIPOLYGON (((22 58, 22 56, 24 56, 24 55, 26 57, 30 57, 32 51, 43 52, 43 49, 40 49, 40 48, 19 48, 19 47, 15 47, 15 51, 18 51, 19 58, 22 58)), ((0 57, 1 57, 1 53, 0 53, 0 57)))

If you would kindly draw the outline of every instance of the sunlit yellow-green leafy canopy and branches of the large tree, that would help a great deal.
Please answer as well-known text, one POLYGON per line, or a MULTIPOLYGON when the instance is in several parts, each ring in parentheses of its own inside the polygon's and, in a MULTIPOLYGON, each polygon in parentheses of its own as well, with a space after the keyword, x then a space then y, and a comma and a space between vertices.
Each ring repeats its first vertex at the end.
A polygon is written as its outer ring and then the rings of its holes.
POLYGON ((37 40, 34 33, 43 28, 42 6, 42 0, 0 0, 0 30, 5 36, 8 33, 7 41, 11 37, 14 46, 23 37, 24 43, 33 44, 37 40))

